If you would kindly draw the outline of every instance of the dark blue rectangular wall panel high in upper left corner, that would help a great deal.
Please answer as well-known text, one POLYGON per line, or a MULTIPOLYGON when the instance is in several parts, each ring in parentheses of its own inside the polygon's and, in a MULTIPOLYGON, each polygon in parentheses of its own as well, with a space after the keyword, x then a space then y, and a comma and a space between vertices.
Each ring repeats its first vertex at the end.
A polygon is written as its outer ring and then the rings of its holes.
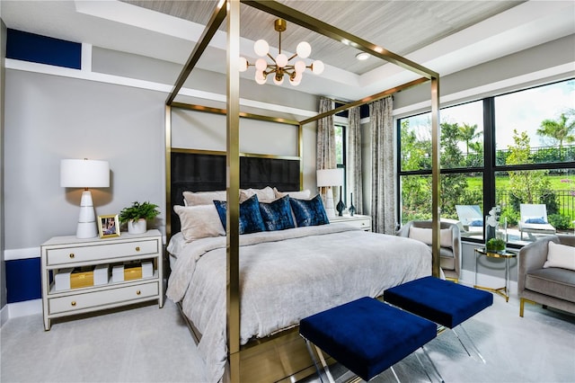
POLYGON ((8 29, 6 58, 80 69, 82 44, 8 29))

